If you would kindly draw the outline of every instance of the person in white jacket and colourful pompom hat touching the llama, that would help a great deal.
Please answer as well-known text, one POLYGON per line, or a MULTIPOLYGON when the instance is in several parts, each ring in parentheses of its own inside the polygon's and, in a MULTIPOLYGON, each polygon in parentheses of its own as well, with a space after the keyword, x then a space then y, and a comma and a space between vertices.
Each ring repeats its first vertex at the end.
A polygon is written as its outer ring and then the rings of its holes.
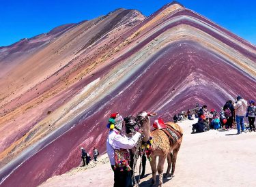
POLYGON ((124 119, 118 113, 111 114, 109 118, 110 129, 109 136, 106 139, 106 152, 109 156, 111 167, 114 171, 114 187, 132 186, 132 177, 130 174, 130 153, 128 149, 132 149, 143 133, 139 129, 132 137, 128 138, 121 134, 124 119))

